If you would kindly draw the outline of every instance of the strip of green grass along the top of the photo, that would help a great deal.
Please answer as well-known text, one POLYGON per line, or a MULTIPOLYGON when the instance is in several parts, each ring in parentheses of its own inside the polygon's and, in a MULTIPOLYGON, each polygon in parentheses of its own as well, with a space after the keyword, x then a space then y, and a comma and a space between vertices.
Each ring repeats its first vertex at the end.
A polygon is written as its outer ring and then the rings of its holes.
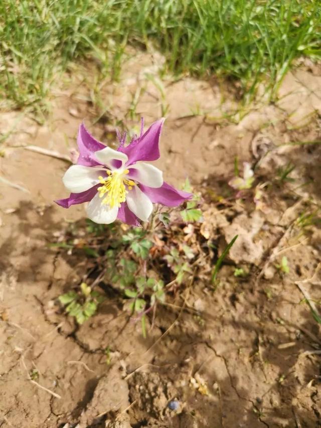
POLYGON ((127 44, 152 43, 164 72, 238 81, 252 97, 275 94, 296 57, 321 56, 321 5, 310 0, 3 0, 0 96, 43 102, 70 61, 95 58, 119 75, 127 44))

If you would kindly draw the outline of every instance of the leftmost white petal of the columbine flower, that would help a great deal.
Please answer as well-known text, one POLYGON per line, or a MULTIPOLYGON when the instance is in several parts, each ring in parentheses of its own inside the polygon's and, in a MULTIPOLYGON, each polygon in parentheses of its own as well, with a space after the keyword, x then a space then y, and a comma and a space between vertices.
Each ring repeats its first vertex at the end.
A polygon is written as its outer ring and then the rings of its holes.
POLYGON ((99 183, 101 171, 83 165, 72 165, 63 176, 65 187, 72 193, 80 193, 99 183))

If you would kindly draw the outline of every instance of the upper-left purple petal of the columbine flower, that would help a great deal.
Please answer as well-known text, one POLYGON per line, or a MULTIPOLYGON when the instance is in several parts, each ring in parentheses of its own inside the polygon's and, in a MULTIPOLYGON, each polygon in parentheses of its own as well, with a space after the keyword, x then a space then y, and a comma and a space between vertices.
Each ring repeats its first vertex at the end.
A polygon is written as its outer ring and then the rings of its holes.
POLYGON ((79 126, 77 144, 79 148, 78 165, 84 165, 86 167, 101 165, 96 161, 94 153, 98 150, 105 149, 106 146, 90 135, 83 123, 79 126))

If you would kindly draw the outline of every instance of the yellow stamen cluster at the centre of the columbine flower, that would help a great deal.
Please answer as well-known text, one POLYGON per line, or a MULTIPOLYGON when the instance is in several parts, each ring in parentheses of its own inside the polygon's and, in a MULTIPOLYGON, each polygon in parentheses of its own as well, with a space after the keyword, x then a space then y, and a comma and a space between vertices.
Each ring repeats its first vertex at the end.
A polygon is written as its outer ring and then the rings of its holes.
POLYGON ((113 208, 115 205, 120 207, 122 202, 126 200, 126 193, 128 190, 132 189, 132 186, 135 186, 135 182, 132 180, 127 180, 124 178, 124 175, 128 174, 129 171, 106 171, 108 177, 98 177, 102 186, 98 187, 99 197, 104 199, 102 204, 109 205, 110 208, 113 208), (127 186, 127 189, 125 187, 127 186))

